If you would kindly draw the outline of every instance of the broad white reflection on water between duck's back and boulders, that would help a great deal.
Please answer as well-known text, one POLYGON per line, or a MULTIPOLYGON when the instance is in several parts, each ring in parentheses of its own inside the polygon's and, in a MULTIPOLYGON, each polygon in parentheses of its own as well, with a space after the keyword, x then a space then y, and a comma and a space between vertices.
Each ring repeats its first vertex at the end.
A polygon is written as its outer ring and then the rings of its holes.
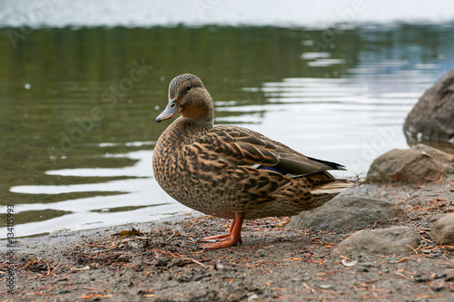
MULTIPOLYGON (((419 80, 422 77, 419 74, 419 80)), ((346 172, 335 171, 336 175, 364 176, 378 155, 405 148, 402 122, 430 81, 427 77, 426 83, 405 83, 400 78, 401 74, 377 76, 374 85, 367 86, 356 76, 263 83, 258 89, 270 104, 261 106, 265 111, 262 122, 252 127, 312 157, 348 167, 346 172), (273 127, 277 124, 285 126, 273 127)), ((253 112, 246 107, 218 110, 253 112)))

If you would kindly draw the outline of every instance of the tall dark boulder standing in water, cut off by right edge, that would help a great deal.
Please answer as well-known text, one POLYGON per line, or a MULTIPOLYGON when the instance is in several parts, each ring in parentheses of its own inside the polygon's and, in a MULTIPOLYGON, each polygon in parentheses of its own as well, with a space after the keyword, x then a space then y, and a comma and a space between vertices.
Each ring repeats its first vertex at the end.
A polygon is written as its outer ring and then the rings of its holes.
POLYGON ((454 69, 419 98, 403 129, 417 141, 454 142, 454 69))

